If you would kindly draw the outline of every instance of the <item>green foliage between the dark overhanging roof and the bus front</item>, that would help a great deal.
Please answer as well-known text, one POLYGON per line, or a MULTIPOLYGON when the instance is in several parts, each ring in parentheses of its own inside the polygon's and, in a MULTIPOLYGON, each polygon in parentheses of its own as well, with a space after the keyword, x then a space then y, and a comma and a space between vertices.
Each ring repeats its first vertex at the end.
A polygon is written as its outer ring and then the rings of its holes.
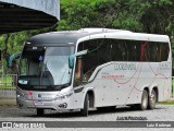
MULTIPOLYGON (((7 66, 7 59, 9 56, 15 53, 15 52, 21 52, 24 41, 26 41, 29 37, 40 34, 40 33, 46 33, 46 32, 51 32, 55 31, 55 26, 49 27, 49 28, 41 28, 41 29, 35 29, 35 31, 23 31, 18 33, 11 33, 11 34, 4 34, 0 36, 0 49, 2 50, 2 64, 0 66, 0 74, 2 72, 5 73, 16 73, 16 68, 9 69, 7 66), (2 71, 2 66, 3 66, 3 71, 2 71)), ((16 64, 17 64, 16 60, 16 64)), ((14 66, 16 67, 16 66, 14 66)))

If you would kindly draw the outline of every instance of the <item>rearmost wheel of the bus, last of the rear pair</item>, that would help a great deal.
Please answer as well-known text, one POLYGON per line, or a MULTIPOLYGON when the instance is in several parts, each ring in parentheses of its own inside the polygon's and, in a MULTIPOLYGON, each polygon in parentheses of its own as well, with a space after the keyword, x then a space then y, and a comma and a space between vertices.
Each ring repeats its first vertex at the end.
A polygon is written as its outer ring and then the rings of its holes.
POLYGON ((151 91, 151 95, 149 97, 148 109, 154 109, 157 103, 157 93, 154 90, 151 91))

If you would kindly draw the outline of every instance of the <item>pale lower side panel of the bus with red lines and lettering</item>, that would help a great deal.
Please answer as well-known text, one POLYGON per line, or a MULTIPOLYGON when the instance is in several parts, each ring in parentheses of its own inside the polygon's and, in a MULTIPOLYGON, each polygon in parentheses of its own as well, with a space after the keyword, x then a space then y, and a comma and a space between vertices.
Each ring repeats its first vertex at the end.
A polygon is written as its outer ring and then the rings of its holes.
POLYGON ((102 68, 91 84, 95 87, 96 107, 139 104, 145 87, 150 93, 150 88, 157 86, 159 100, 169 97, 171 84, 165 75, 169 76, 170 71, 162 71, 159 62, 137 62, 134 63, 136 70, 126 70, 125 67, 132 62, 115 63, 120 63, 120 69, 115 64, 102 68))

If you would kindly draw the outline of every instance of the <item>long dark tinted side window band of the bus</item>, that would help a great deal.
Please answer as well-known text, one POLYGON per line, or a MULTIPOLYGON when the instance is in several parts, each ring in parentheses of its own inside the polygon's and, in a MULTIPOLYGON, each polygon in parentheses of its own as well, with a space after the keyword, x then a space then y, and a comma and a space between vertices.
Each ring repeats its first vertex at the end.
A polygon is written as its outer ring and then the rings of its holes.
MULTIPOLYGON (((78 74, 82 74, 85 78, 84 80, 87 81, 98 66, 110 61, 166 61, 170 48, 167 43, 105 38, 80 43, 78 51, 85 49, 88 49, 88 53, 82 58, 83 66, 78 74)), ((78 60, 76 64, 79 63, 78 60)))

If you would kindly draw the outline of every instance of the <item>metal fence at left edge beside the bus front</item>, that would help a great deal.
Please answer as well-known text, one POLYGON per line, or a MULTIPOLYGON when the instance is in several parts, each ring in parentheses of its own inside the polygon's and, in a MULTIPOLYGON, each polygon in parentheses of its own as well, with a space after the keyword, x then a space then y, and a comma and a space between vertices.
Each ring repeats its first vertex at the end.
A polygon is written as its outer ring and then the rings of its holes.
POLYGON ((0 99, 14 99, 16 97, 16 74, 0 75, 0 99))

